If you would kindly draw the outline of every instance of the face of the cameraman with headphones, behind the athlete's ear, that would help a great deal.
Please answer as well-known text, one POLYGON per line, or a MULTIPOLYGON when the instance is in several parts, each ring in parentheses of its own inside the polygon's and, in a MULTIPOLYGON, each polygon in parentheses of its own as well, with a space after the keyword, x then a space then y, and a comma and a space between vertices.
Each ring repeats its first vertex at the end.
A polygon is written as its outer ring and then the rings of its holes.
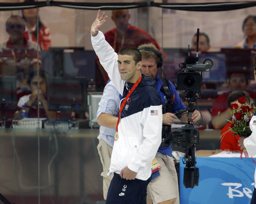
POLYGON ((142 58, 141 73, 143 73, 145 76, 149 76, 152 79, 155 79, 157 72, 157 63, 153 57, 149 59, 142 58))

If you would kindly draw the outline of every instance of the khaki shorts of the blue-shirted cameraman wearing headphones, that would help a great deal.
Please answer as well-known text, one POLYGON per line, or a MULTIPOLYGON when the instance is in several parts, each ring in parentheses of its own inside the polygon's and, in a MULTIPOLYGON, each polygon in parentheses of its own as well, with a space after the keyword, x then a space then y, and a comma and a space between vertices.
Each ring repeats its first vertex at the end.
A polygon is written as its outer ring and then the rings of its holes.
POLYGON ((179 204, 178 177, 173 158, 157 152, 156 159, 162 168, 159 170, 160 176, 148 185, 147 200, 153 200, 153 204, 157 204, 176 198, 174 204, 179 204))

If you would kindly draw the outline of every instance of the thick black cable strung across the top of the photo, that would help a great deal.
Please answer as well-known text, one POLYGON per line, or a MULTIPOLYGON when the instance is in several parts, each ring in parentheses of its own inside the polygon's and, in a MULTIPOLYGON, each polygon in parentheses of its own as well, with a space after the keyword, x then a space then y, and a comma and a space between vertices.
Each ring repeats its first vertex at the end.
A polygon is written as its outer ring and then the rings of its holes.
POLYGON ((241 8, 256 6, 256 1, 239 1, 239 2, 212 2, 212 3, 155 3, 147 0, 145 2, 133 3, 91 3, 91 2, 66 2, 56 0, 46 0, 37 2, 22 3, 0 3, 0 11, 2 10, 19 10, 33 7, 43 6, 61 6, 67 8, 90 9, 90 10, 113 10, 113 9, 130 9, 139 7, 155 6, 174 10, 187 11, 227 11, 241 8))

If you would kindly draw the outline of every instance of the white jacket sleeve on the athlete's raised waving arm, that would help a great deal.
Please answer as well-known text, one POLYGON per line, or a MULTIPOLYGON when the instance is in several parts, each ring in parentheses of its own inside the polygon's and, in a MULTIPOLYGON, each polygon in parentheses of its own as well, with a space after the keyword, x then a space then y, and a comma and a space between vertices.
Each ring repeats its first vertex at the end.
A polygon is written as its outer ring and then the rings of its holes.
POLYGON ((99 62, 106 70, 108 77, 113 82, 115 88, 120 94, 123 94, 125 81, 121 79, 118 71, 118 55, 114 49, 105 40, 105 36, 101 31, 98 31, 96 36, 91 35, 91 44, 99 58, 99 62))

